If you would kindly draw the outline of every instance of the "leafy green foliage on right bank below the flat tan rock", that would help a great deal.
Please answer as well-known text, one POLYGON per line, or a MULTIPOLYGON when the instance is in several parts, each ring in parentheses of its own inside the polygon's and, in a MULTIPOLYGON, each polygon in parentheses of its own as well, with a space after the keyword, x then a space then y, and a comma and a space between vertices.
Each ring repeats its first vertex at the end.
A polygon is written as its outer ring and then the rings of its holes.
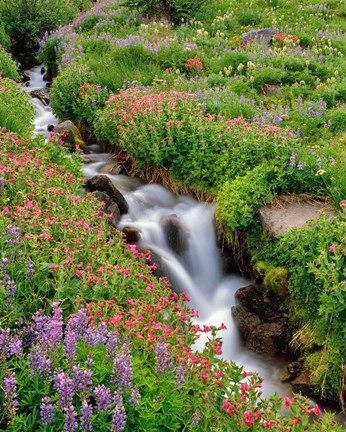
POLYGON ((292 316, 302 328, 295 342, 305 352, 316 394, 328 401, 342 397, 346 359, 345 229, 346 205, 341 204, 340 215, 332 221, 325 216, 276 240, 259 242, 254 237, 250 242, 254 261, 289 269, 292 316))

